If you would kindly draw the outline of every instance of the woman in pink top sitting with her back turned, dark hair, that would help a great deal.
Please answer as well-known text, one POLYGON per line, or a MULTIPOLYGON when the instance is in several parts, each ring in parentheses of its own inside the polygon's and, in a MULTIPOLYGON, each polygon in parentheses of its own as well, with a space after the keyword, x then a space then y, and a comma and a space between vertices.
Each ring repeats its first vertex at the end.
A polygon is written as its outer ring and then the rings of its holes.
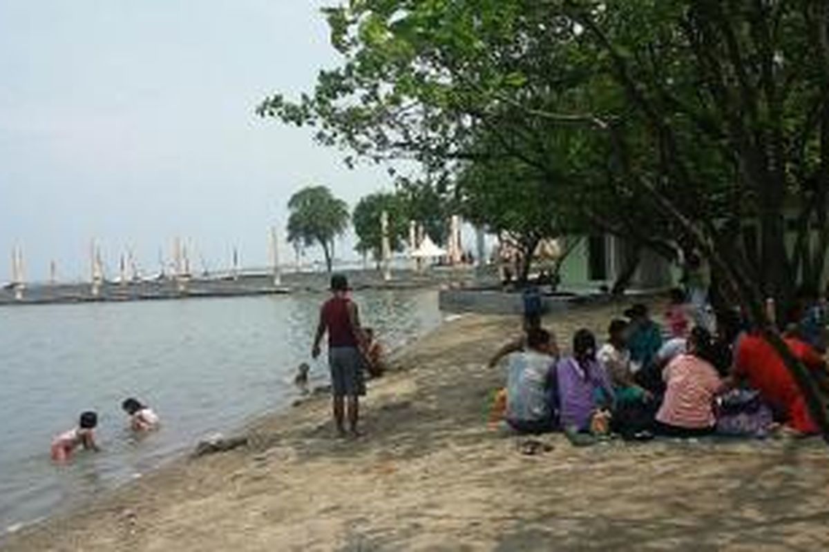
POLYGON ((674 358, 662 372, 667 386, 657 412, 657 433, 671 437, 697 437, 713 433, 714 399, 723 382, 710 362, 711 336, 694 328, 687 353, 674 358))

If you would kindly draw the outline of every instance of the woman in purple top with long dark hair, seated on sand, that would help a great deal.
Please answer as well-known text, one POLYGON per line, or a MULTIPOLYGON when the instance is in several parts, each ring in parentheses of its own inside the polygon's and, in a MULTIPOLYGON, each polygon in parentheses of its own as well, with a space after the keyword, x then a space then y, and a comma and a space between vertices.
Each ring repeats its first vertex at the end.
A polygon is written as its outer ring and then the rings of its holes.
POLYGON ((560 402, 560 424, 564 430, 586 431, 599 407, 612 407, 613 386, 604 367, 596 360, 596 338, 588 329, 573 337, 573 356, 556 368, 560 402))

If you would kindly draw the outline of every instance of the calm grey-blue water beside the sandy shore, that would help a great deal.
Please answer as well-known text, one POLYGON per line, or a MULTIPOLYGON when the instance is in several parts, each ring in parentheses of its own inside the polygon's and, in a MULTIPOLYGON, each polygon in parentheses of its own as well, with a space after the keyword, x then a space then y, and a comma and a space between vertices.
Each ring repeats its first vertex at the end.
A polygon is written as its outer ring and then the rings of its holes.
MULTIPOLYGON (((0 534, 146 473, 197 439, 293 396, 324 295, 0 309, 0 534), (137 439, 137 396, 162 430, 137 439), (49 461, 52 437, 97 410, 100 454, 49 461)), ((363 324, 395 348, 439 324, 431 291, 356 294, 363 324)), ((322 358, 312 382, 327 381, 322 358)))

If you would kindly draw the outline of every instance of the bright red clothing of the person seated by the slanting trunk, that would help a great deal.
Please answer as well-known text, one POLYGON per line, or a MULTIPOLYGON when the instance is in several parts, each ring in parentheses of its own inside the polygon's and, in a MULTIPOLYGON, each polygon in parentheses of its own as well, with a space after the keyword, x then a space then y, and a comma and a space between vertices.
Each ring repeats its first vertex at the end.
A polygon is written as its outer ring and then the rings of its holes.
MULTIPOLYGON (((797 334, 785 338, 795 358, 808 370, 825 370, 826 362, 817 351, 797 334)), ((748 334, 739 340, 734 353, 734 379, 748 381, 774 410, 775 417, 785 421, 802 434, 819 433, 806 406, 800 388, 788 371, 783 358, 759 334, 748 334)))

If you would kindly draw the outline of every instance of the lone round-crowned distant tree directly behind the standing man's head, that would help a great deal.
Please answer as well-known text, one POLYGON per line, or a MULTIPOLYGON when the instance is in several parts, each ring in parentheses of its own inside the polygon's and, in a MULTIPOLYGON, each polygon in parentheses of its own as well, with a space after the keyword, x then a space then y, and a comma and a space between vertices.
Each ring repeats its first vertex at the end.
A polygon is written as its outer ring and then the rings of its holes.
POLYGON ((288 210, 288 241, 305 247, 317 242, 331 272, 334 238, 348 228, 346 202, 335 198, 326 186, 308 186, 291 196, 288 210))

